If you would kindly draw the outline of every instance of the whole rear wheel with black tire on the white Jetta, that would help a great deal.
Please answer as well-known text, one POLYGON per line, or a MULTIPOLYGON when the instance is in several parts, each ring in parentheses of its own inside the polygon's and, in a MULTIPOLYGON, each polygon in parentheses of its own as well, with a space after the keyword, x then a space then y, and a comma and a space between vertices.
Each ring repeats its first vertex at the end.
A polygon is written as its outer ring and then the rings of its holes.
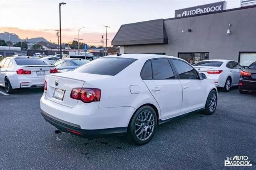
POLYGON ((150 106, 143 106, 132 116, 128 126, 128 134, 136 145, 145 145, 154 136, 156 126, 156 111, 150 106))

